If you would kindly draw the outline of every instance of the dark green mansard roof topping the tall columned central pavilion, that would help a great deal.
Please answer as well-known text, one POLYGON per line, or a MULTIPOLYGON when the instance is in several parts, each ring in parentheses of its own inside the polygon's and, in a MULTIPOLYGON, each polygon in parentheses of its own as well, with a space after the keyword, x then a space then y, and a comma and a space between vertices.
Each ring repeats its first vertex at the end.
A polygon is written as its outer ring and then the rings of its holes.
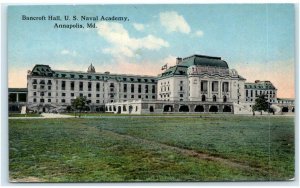
POLYGON ((180 65, 185 66, 209 66, 209 67, 220 67, 228 69, 228 64, 226 61, 222 60, 221 57, 213 56, 204 56, 204 55, 192 55, 186 58, 183 58, 180 65))

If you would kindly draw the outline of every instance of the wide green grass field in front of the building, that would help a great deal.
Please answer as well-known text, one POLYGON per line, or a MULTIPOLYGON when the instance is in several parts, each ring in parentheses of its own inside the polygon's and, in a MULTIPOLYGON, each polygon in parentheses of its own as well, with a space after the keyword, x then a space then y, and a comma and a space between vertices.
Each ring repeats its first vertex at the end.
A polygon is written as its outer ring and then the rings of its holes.
POLYGON ((9 120, 11 181, 243 181, 294 177, 294 118, 9 120))

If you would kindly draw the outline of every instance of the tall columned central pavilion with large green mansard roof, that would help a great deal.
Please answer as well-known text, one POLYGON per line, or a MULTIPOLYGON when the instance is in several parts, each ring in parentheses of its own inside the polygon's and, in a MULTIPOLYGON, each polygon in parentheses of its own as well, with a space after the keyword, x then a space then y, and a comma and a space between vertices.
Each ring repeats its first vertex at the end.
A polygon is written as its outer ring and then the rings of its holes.
POLYGON ((245 80, 220 57, 193 55, 158 76, 158 100, 244 102, 245 80))

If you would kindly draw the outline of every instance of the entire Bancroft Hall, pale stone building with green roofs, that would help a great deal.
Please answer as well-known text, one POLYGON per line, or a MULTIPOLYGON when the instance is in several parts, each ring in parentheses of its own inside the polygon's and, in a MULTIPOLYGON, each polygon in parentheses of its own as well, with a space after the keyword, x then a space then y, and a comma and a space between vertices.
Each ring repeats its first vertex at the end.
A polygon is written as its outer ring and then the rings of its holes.
POLYGON ((86 72, 35 65, 27 75, 26 106, 31 111, 61 112, 77 96, 86 96, 85 111, 249 114, 256 97, 264 94, 277 113, 287 105, 285 112, 294 111, 293 100, 278 100, 270 81, 245 81, 220 57, 203 55, 177 58, 176 65, 165 67, 158 76, 99 73, 92 64, 86 72))

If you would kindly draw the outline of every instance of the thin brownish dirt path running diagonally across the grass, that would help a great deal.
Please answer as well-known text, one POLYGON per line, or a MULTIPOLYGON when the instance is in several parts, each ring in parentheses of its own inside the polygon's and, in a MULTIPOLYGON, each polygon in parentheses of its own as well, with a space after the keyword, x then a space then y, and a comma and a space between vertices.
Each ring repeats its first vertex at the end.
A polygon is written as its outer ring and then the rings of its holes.
POLYGON ((224 165, 228 165, 230 167, 234 167, 234 168, 239 168, 239 169, 243 169, 246 171, 256 171, 256 172, 260 172, 264 175, 268 175, 269 172, 265 169, 262 168, 258 168, 258 167, 253 167, 250 166, 249 164, 246 163, 241 163, 235 160, 230 160, 230 159, 226 159, 226 158, 222 158, 222 157, 217 157, 217 156, 213 156, 207 153, 201 153, 192 149, 184 149, 184 148, 180 148, 180 147, 176 147, 176 146, 172 146, 172 145, 168 145, 168 144, 164 144, 164 143, 160 143, 160 142, 155 142, 152 140, 147 140, 147 139, 143 139, 143 138, 138 138, 138 137, 134 137, 131 135, 127 135, 127 134, 120 134, 114 131, 110 131, 110 130, 105 130, 102 129, 103 132, 107 132, 107 133, 111 133, 111 134, 115 134, 117 136, 123 137, 123 138, 127 138, 127 139, 131 139, 131 140, 135 140, 139 143, 143 143, 146 145, 154 145, 154 146, 159 146, 165 149, 169 149, 169 150, 173 150, 177 153, 181 153, 183 155, 187 155, 187 156, 191 156, 191 157, 196 157, 199 158, 201 160, 207 160, 207 161, 216 161, 219 163, 222 163, 224 165))

